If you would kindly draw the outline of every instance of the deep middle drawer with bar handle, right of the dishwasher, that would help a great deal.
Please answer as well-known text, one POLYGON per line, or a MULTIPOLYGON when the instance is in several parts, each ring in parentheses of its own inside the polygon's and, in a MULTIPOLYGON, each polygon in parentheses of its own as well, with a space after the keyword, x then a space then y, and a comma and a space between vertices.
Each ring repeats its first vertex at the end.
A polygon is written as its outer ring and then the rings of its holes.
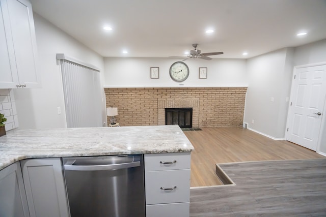
POLYGON ((146 204, 189 202, 189 189, 190 169, 145 172, 146 204))

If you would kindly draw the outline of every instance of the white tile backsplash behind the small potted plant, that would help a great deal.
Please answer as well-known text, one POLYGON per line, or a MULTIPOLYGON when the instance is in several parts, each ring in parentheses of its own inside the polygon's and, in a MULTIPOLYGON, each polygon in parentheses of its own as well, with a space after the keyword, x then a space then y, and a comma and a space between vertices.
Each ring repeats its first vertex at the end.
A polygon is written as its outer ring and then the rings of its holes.
POLYGON ((5 114, 6 131, 18 128, 15 97, 12 89, 0 89, 0 113, 5 114))

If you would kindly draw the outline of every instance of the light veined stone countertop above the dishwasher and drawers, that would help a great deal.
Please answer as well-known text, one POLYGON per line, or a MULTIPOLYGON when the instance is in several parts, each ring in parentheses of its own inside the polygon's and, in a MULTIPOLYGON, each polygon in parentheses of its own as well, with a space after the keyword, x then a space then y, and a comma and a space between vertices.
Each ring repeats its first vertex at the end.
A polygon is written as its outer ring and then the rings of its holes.
POLYGON ((19 160, 115 154, 189 152, 179 126, 11 130, 0 137, 0 170, 19 160))

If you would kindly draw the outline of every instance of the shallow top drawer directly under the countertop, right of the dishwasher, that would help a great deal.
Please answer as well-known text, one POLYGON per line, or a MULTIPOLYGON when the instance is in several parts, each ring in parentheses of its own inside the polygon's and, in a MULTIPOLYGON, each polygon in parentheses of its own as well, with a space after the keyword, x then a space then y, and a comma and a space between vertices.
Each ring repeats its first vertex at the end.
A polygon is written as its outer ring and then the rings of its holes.
POLYGON ((190 169, 190 153, 145 154, 145 171, 190 169))

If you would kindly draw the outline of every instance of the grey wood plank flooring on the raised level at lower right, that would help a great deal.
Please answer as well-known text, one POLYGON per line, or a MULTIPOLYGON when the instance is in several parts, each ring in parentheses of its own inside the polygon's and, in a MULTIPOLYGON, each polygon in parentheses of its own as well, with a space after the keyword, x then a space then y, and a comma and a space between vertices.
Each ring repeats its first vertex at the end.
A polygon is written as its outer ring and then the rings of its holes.
POLYGON ((190 216, 326 216, 326 159, 220 167, 236 186, 191 189, 190 216))

